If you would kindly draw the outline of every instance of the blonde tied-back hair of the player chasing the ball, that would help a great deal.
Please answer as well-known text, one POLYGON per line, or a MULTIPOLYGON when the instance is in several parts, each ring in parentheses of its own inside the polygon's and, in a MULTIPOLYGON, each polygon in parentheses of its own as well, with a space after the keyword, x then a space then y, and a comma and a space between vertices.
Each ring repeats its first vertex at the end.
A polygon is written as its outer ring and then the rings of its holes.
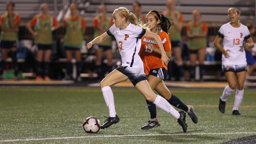
MULTIPOLYGON (((118 8, 118 9, 115 9, 115 10, 114 10, 114 12, 117 12, 117 11, 120 12, 120 16, 125 17, 126 20, 127 20, 128 22, 130 22, 131 24, 138 25, 138 26, 140 26, 140 27, 142 27, 142 28, 144 28, 144 29, 148 29, 148 28, 146 27, 146 24, 143 24, 140 19, 137 19, 137 17, 134 15, 134 13, 133 13, 133 12, 130 12, 127 8, 125 8, 125 7, 120 7, 120 8, 118 8)), ((113 12, 113 13, 114 13, 114 12, 113 12)))

